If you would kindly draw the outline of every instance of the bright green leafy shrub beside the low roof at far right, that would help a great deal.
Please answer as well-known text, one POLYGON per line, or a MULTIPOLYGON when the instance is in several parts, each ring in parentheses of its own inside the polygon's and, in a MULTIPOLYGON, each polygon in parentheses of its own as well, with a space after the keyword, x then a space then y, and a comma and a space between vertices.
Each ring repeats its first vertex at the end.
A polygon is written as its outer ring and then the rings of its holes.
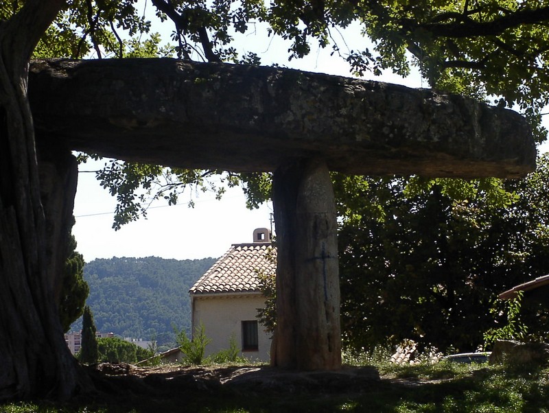
MULTIPOLYGON (((496 340, 524 340, 526 338, 526 333, 528 332, 528 327, 526 327, 520 321, 520 307, 522 305, 522 298, 524 292, 517 292, 517 296, 511 300, 506 300, 506 316, 507 322, 506 325, 497 328, 491 328, 484 333, 484 346, 491 346, 496 340)), ((501 312, 498 308, 498 302, 496 300, 494 306, 490 309, 491 314, 498 314, 501 312)))

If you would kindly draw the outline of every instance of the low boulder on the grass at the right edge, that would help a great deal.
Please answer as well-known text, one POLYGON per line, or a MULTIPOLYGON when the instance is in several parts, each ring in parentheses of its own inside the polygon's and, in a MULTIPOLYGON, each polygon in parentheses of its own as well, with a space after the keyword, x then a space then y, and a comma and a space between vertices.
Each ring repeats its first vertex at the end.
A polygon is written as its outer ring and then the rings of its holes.
POLYGON ((548 361, 549 344, 540 342, 498 340, 490 355, 490 364, 546 364, 548 361))

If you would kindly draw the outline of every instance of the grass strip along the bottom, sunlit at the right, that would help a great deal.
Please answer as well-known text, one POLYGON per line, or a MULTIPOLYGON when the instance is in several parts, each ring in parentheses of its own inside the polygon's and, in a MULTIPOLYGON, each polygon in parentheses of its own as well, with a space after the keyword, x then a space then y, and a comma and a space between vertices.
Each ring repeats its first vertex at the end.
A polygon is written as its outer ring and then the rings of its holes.
MULTIPOLYGON (((352 360, 372 364, 371 357, 352 360)), ((246 394, 221 388, 216 394, 181 394, 169 400, 0 405, 0 413, 271 413, 271 412, 548 412, 549 368, 374 363, 383 379, 356 394, 246 394)))

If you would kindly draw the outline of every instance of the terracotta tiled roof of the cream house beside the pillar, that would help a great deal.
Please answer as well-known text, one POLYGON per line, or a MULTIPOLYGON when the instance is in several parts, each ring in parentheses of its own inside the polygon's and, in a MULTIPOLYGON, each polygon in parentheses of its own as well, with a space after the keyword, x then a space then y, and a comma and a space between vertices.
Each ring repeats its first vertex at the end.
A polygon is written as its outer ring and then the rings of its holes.
POLYGON ((233 244, 207 272, 196 281, 191 294, 259 292, 258 272, 277 270, 276 248, 269 242, 233 244), (270 258, 271 257, 271 258, 270 258), (274 258, 274 259, 273 259, 274 258))

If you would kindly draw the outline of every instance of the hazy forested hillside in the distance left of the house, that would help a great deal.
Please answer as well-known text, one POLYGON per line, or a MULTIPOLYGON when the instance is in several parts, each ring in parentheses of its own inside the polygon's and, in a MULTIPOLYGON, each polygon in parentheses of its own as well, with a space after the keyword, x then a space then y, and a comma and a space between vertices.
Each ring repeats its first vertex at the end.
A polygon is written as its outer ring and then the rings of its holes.
MULTIPOLYGON (((95 259, 84 266, 86 300, 97 331, 175 344, 174 328, 191 327, 189 288, 215 262, 158 257, 95 259)), ((81 320, 72 329, 80 330, 81 320)))

